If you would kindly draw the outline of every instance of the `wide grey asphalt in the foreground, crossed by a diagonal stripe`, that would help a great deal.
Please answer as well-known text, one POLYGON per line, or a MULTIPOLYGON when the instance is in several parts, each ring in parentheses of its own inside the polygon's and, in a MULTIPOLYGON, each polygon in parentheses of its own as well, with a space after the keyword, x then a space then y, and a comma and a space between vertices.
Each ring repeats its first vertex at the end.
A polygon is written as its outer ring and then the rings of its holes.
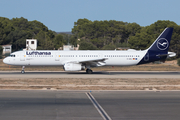
POLYGON ((0 90, 0 96, 1 120, 180 119, 179 91, 0 90))

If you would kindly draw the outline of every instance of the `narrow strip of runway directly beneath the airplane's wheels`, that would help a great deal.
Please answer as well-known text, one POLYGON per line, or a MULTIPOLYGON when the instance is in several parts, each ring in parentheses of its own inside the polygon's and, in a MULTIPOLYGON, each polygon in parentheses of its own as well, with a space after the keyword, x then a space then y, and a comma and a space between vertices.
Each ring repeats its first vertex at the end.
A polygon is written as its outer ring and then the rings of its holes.
POLYGON ((0 71, 0 78, 180 78, 178 71, 95 71, 93 74, 85 72, 64 71, 0 71))

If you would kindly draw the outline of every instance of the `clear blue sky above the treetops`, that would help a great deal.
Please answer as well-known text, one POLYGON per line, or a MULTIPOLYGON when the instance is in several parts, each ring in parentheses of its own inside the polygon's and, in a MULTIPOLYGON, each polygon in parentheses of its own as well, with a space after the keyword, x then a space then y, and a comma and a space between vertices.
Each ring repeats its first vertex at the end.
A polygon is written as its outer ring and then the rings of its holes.
POLYGON ((180 0, 0 0, 0 16, 38 20, 56 32, 71 31, 80 18, 180 25, 180 0))

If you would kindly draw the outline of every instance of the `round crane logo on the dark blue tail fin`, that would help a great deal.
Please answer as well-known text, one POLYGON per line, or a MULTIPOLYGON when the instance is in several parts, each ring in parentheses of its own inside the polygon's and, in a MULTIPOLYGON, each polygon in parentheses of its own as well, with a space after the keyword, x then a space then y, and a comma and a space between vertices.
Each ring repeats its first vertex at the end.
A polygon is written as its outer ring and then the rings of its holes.
POLYGON ((165 38, 161 38, 157 41, 157 47, 160 50, 166 50, 168 48, 168 46, 169 46, 169 43, 165 38))

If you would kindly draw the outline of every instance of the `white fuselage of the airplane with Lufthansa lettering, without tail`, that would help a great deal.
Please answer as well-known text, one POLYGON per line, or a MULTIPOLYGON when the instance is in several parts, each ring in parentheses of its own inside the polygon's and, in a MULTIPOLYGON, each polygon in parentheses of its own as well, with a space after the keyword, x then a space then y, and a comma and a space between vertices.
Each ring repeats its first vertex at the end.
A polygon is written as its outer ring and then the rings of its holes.
POLYGON ((17 51, 4 59, 4 63, 20 66, 61 66, 68 62, 89 61, 105 58, 104 65, 136 65, 145 56, 145 51, 87 50, 59 51, 37 50, 17 51))

